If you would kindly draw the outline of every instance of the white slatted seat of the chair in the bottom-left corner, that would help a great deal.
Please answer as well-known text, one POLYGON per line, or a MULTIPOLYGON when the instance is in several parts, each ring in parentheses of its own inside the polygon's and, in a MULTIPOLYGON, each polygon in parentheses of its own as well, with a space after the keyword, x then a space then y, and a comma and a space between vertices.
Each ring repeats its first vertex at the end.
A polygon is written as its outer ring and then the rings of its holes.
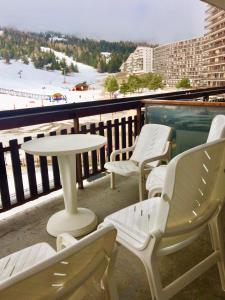
POLYGON ((53 256, 56 251, 47 243, 38 243, 0 259, 0 281, 53 256))

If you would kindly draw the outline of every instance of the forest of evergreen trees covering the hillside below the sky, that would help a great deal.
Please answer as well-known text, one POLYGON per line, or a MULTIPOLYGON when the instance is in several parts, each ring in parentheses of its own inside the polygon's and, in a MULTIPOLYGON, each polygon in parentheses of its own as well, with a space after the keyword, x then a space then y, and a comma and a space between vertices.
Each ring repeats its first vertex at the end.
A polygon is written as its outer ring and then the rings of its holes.
MULTIPOLYGON (((108 73, 119 72, 122 63, 137 47, 136 43, 130 41, 96 41, 55 32, 34 33, 12 28, 0 28, 0 30, 4 31, 3 36, 0 36, 0 57, 6 63, 9 63, 11 59, 21 59, 27 64, 32 61, 37 68, 50 70, 62 70, 62 66, 54 57, 53 52, 51 54, 44 53, 41 51, 41 47, 63 52, 77 62, 90 65, 99 72, 108 73), (63 39, 60 39, 62 36, 63 39), (52 37, 59 37, 59 39, 52 37), (102 52, 109 52, 110 58, 107 59, 102 52)), ((66 67, 68 72, 73 69, 75 72, 77 71, 76 66, 66 67)))

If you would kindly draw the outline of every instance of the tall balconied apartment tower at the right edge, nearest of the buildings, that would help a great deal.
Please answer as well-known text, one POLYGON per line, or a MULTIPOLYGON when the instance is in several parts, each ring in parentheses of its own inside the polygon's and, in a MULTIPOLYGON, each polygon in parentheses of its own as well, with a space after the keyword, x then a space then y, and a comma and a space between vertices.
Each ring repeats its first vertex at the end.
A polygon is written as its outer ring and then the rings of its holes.
POLYGON ((205 17, 204 79, 207 86, 225 85, 225 11, 208 6, 205 17))

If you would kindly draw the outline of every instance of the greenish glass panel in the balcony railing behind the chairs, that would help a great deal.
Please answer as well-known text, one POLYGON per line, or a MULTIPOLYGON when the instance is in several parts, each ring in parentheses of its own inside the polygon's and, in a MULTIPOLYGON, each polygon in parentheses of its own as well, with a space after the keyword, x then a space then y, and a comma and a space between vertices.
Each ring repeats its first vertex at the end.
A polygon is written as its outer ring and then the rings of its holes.
POLYGON ((146 123, 171 126, 172 156, 205 143, 215 115, 225 114, 225 107, 146 105, 146 123))

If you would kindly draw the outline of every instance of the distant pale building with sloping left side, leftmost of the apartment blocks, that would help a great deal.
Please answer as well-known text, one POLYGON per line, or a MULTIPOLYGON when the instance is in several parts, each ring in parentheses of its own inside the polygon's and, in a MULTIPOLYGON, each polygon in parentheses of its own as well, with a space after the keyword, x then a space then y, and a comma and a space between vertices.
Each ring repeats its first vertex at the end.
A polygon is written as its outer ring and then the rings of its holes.
POLYGON ((138 46, 120 67, 121 72, 149 73, 153 70, 153 48, 138 46))

